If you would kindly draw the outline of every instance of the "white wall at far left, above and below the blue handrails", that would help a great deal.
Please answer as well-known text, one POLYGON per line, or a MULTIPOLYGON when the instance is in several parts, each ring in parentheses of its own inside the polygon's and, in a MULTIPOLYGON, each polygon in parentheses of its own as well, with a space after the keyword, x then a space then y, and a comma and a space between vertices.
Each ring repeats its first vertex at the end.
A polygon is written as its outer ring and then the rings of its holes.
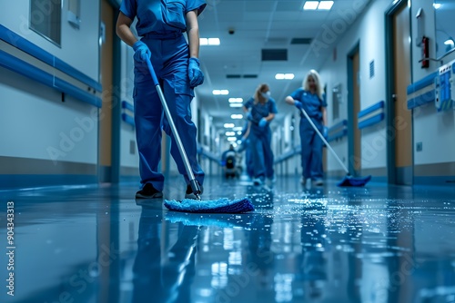
MULTIPOLYGON (((95 81, 99 74, 99 2, 83 2, 81 28, 66 22, 62 12, 61 48, 28 29, 29 1, 2 1, 2 24, 31 43, 86 73, 95 81)), ((97 108, 66 96, 24 76, 2 68, 0 73, 0 156, 31 159, 97 162, 97 108)))

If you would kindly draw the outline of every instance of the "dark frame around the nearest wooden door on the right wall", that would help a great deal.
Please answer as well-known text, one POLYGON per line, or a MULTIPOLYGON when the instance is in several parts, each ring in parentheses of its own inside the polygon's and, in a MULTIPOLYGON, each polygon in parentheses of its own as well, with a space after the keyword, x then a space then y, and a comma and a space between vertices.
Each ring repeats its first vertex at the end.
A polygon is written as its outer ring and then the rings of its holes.
MULTIPOLYGON (((387 130, 393 130, 395 128, 395 103, 392 98, 392 94, 395 92, 395 60, 394 60, 394 48, 393 48, 393 16, 399 11, 404 5, 408 5, 408 0, 398 0, 389 6, 389 9, 385 13, 385 51, 386 51, 386 124, 387 130)), ((411 10, 410 10, 410 29, 412 30, 411 24, 411 10)), ((412 39, 412 36, 410 37, 412 39)), ((412 41, 410 43, 412 45, 412 41)), ((410 80, 412 83, 412 51, 410 51, 410 80)), ((414 125, 413 111, 410 112, 411 122, 411 156, 412 162, 410 165, 411 169, 411 183, 414 184, 414 125)), ((394 132, 395 133, 395 132, 394 132)), ((396 169, 396 156, 395 156, 395 135, 387 136, 387 177, 389 184, 397 183, 397 169, 396 169)))

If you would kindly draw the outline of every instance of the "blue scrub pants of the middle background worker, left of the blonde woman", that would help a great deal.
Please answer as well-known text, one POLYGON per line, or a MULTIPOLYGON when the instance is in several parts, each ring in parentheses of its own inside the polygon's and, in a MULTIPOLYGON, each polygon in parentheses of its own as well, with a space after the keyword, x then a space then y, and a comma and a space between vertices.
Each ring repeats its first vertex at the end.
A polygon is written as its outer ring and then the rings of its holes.
POLYGON ((254 163, 254 178, 273 178, 273 152, 270 147, 272 133, 268 126, 260 128, 251 126, 249 134, 250 151, 254 163))

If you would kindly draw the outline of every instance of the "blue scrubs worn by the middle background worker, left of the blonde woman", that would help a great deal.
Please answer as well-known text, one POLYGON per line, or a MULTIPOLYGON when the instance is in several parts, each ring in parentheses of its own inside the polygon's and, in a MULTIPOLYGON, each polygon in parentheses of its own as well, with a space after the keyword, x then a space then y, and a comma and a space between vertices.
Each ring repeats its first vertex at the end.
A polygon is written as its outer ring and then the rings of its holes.
POLYGON ((268 102, 261 104, 256 103, 254 98, 248 99, 243 105, 247 109, 251 109, 251 130, 249 132, 250 151, 252 153, 254 163, 254 178, 264 180, 265 178, 273 178, 273 152, 271 149, 272 132, 270 126, 260 127, 258 122, 267 117, 270 113, 277 113, 277 104, 272 98, 268 102))

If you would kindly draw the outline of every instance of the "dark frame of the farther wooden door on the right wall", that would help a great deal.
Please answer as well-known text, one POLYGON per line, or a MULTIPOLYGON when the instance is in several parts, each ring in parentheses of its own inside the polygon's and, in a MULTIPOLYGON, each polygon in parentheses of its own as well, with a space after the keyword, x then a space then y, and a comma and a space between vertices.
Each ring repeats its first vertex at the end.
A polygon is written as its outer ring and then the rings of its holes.
MULTIPOLYGON (((358 127, 358 125, 354 125, 354 121, 357 121, 354 119, 354 82, 352 81, 353 76, 354 76, 354 66, 353 66, 353 57, 354 54, 359 54, 360 58, 360 41, 358 41, 352 49, 348 53, 348 170, 350 173, 352 173, 354 176, 359 175, 359 171, 355 170, 355 165, 353 161, 350 161, 350 156, 349 155, 354 155, 355 152, 355 146, 356 146, 356 141, 355 141, 355 136, 354 136, 354 128, 358 127)), ((360 137, 361 138, 361 137, 360 137)), ((361 142, 357 142, 361 144, 361 142)), ((361 160, 359 160, 361 161, 361 160)), ((361 167, 361 165, 360 165, 361 167)))

